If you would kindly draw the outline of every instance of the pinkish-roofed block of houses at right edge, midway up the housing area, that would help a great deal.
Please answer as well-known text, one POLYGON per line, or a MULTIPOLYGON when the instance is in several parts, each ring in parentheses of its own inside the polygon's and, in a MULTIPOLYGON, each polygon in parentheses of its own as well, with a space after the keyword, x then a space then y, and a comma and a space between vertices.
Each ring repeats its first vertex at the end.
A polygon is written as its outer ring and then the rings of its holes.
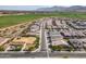
POLYGON ((79 30, 63 30, 61 31, 61 35, 64 38, 86 38, 86 35, 79 30))

